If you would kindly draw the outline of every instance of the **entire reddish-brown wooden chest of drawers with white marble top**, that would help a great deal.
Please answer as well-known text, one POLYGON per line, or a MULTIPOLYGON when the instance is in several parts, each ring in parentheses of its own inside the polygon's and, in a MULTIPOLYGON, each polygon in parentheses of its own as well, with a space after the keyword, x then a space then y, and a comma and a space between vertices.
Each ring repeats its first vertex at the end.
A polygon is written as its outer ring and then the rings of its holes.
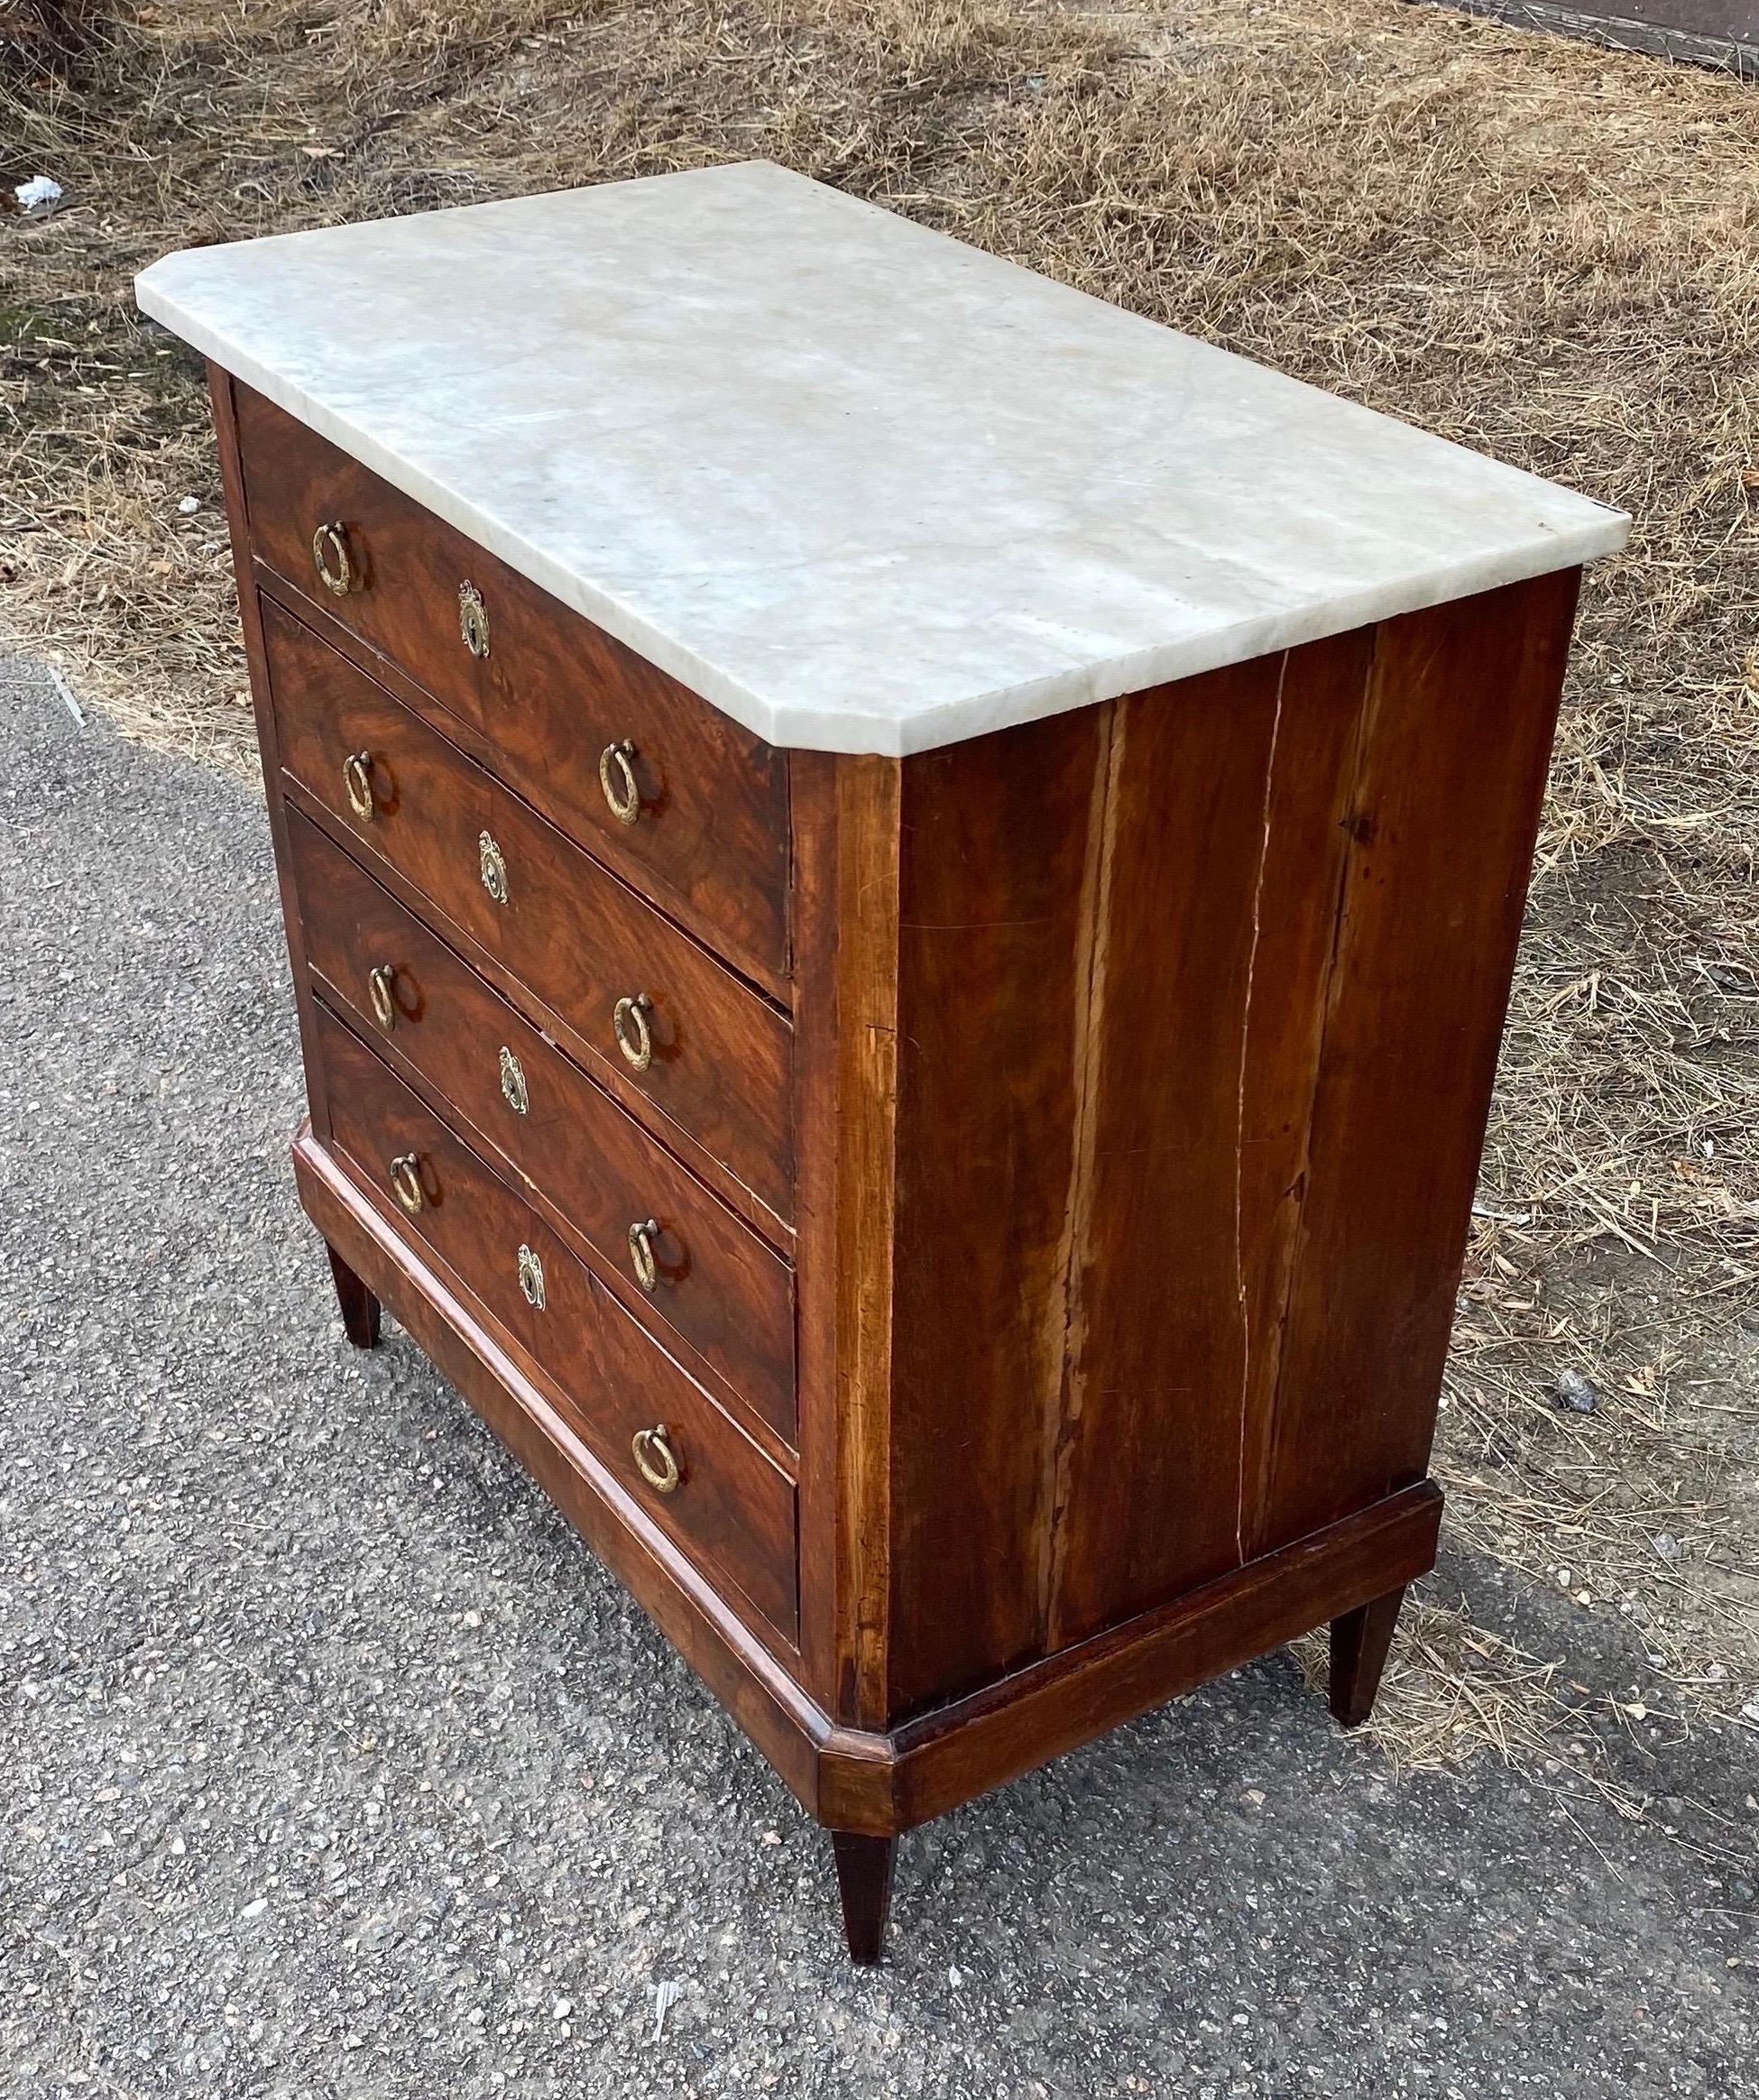
POLYGON ((829 1827, 856 1959, 903 1831, 1297 1634, 1360 1720, 1625 521, 775 168, 141 300, 348 1338, 829 1827))

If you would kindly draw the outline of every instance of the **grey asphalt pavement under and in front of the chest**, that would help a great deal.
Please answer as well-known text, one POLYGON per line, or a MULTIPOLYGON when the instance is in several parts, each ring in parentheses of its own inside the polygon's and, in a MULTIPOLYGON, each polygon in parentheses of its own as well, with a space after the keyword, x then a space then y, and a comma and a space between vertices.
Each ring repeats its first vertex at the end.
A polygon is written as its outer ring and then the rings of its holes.
POLYGON ((1692 1829, 1394 1783, 1287 1657, 905 1840, 852 1972, 775 1774, 342 1344, 258 800, 15 668, 0 895, 0 2094, 1759 2092, 1751 1756, 1692 1829))

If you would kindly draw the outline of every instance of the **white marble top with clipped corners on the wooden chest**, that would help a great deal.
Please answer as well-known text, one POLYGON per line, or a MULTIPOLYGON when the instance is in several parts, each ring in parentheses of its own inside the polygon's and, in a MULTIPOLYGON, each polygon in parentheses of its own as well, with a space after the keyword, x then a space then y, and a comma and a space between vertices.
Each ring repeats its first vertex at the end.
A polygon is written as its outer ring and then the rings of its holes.
POLYGON ((766 162, 187 250, 136 294, 796 748, 932 750, 1629 527, 766 162))

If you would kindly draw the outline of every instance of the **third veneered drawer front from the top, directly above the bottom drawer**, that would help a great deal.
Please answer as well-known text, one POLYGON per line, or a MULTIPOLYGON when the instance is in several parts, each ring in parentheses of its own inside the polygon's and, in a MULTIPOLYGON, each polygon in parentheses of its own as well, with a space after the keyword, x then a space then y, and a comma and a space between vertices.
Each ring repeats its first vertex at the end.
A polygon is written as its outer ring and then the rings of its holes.
POLYGON ((288 840, 332 1006, 405 1056, 628 1279, 626 1304, 791 1443, 789 1264, 298 811, 288 840))

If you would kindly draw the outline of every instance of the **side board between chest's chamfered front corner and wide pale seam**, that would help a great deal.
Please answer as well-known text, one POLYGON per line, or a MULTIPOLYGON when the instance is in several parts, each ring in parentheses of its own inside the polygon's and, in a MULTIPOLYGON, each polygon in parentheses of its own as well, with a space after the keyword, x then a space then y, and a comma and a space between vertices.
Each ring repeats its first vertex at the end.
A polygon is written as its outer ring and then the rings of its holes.
POLYGON ((1108 722, 903 762, 890 1716, 1043 1646, 1108 722))

